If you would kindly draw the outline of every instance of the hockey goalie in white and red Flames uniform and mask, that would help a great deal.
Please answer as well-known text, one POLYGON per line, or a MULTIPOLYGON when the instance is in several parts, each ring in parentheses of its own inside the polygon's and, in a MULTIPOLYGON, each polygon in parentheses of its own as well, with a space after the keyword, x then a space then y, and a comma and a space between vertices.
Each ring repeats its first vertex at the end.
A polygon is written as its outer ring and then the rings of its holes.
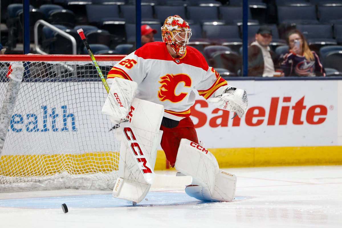
POLYGON ((191 29, 180 16, 166 18, 163 42, 147 43, 117 63, 107 75, 110 92, 102 112, 120 123, 119 178, 113 197, 138 203, 153 180, 160 144, 167 160, 191 176, 185 192, 203 201, 234 199, 236 176, 218 162, 197 138, 190 107, 195 91, 208 103, 235 112, 247 110, 247 94, 228 85, 196 49, 187 46, 191 29))

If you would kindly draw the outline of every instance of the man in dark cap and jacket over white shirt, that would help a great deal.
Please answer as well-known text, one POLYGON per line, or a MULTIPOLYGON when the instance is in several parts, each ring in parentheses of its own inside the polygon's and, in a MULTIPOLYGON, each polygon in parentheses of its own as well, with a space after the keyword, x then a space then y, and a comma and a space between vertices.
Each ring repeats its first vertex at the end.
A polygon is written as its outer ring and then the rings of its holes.
POLYGON ((248 76, 273 77, 275 75, 276 54, 269 48, 272 41, 272 29, 261 26, 255 41, 248 48, 248 76))

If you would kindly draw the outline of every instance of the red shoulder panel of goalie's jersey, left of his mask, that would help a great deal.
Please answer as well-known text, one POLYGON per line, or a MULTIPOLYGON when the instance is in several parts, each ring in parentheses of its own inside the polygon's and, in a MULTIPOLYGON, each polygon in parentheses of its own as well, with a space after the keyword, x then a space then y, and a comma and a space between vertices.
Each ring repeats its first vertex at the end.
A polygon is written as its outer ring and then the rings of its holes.
POLYGON ((166 44, 164 42, 150 42, 135 51, 135 55, 144 59, 167 59, 165 53, 166 44))

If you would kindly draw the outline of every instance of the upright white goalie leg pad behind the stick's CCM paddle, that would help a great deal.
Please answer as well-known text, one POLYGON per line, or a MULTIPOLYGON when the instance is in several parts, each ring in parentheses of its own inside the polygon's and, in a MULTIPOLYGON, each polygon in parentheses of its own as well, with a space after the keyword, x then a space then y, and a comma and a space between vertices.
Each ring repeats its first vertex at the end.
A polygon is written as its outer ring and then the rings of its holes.
POLYGON ((130 122, 120 124, 119 178, 113 197, 139 203, 148 193, 155 177, 153 170, 162 136, 159 126, 163 112, 162 105, 134 98, 130 122))

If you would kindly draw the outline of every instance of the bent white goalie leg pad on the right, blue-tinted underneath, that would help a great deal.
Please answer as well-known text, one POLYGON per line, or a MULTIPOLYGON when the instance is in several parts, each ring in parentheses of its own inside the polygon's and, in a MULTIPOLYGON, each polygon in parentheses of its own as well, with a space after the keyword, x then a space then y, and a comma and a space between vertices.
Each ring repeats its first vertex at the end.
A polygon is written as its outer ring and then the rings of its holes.
POLYGON ((203 201, 232 201, 236 176, 219 169, 216 158, 207 149, 187 139, 181 140, 175 168, 192 176, 185 192, 203 201))

